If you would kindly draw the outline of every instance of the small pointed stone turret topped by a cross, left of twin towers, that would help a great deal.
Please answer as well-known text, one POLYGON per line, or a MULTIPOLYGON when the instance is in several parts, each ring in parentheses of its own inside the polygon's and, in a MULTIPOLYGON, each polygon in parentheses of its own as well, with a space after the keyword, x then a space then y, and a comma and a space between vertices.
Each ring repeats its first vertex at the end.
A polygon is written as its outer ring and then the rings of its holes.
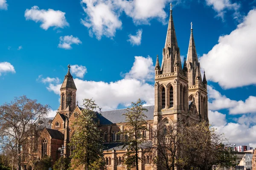
POLYGON ((61 105, 58 112, 69 116, 76 107, 76 85, 73 76, 70 74, 70 65, 67 66, 68 71, 61 85, 61 105))

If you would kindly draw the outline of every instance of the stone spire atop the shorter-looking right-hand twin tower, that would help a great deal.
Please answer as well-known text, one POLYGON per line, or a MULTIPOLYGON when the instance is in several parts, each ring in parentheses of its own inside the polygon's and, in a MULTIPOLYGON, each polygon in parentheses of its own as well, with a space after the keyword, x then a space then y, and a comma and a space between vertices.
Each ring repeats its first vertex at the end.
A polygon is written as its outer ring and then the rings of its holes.
MULTIPOLYGON (((186 64, 188 68, 188 81, 189 85, 195 85, 195 79, 196 79, 196 71, 198 67, 198 56, 196 53, 195 49, 195 40, 193 36, 193 28, 192 28, 192 23, 191 23, 191 33, 190 33, 190 39, 189 39, 189 49, 188 49, 188 54, 187 54, 187 59, 186 59, 186 64)), ((200 68, 200 67, 199 67, 200 68)), ((200 70, 199 70, 200 72, 200 70)))

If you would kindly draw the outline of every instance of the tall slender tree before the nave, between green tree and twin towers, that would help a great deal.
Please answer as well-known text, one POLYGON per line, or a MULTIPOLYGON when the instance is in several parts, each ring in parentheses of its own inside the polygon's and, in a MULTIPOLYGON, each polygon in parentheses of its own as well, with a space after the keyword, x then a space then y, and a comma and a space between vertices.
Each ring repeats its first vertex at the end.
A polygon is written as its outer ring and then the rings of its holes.
POLYGON ((139 170, 138 163, 141 159, 138 156, 141 145, 145 142, 144 136, 141 134, 144 130, 147 130, 147 122, 145 118, 147 116, 143 111, 148 111, 143 108, 145 102, 138 99, 137 102, 131 102, 131 108, 127 108, 127 113, 125 115, 125 121, 127 122, 127 134, 129 135, 128 139, 125 140, 123 148, 127 146, 128 152, 125 153, 127 159, 125 159, 125 164, 128 168, 136 167, 136 170, 139 170))

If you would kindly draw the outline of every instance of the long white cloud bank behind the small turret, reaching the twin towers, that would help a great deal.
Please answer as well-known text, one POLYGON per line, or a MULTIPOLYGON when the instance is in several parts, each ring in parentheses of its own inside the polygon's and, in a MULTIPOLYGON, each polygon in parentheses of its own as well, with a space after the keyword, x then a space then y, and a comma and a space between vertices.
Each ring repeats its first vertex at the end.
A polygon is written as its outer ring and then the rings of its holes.
MULTIPOLYGON (((95 82, 75 78, 74 82, 77 88, 77 100, 82 103, 84 98, 93 98, 103 110, 116 109, 119 105, 128 107, 131 102, 137 99, 143 99, 147 105, 154 105, 154 87, 146 82, 147 79, 153 79, 154 76, 147 69, 138 68, 138 63, 143 68, 152 68, 153 62, 150 57, 136 57, 131 70, 125 74, 125 77, 115 82, 95 82), (142 71, 143 75, 139 72, 142 71)), ((47 86, 49 91, 60 95, 61 84, 50 83, 47 86)))

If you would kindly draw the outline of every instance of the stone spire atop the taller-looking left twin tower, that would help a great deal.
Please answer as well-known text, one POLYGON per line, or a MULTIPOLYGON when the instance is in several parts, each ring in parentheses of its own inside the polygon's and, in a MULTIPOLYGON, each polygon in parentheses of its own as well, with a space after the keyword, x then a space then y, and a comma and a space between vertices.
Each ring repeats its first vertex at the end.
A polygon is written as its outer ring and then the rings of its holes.
POLYGON ((169 24, 167 28, 166 42, 163 48, 163 61, 161 66, 162 74, 174 72, 174 64, 175 64, 174 59, 175 59, 176 51, 177 51, 178 57, 180 57, 179 55, 180 51, 178 48, 174 22, 172 18, 172 3, 170 4, 170 6, 171 6, 171 9, 170 9, 169 24))

